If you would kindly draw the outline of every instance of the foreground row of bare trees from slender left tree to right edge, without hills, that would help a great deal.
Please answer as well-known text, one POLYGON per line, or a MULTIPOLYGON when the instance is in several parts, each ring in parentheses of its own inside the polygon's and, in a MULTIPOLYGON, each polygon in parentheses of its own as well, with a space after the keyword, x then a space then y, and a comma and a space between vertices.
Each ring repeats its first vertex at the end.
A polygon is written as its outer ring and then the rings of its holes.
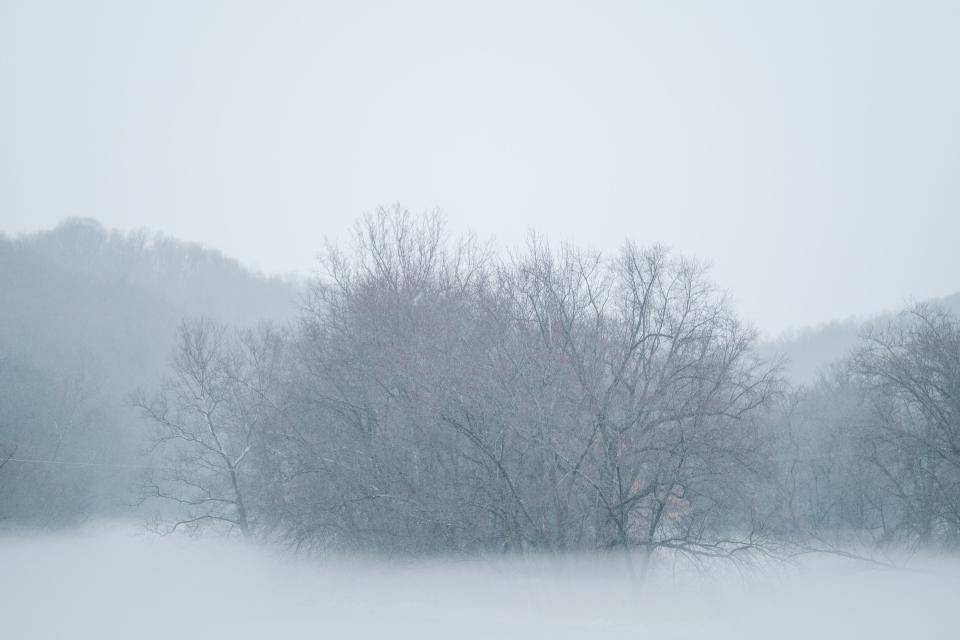
POLYGON ((169 376, 134 396, 157 530, 641 558, 960 540, 943 310, 793 388, 704 266, 662 247, 531 235, 504 256, 395 208, 322 265, 295 323, 181 323, 169 376))

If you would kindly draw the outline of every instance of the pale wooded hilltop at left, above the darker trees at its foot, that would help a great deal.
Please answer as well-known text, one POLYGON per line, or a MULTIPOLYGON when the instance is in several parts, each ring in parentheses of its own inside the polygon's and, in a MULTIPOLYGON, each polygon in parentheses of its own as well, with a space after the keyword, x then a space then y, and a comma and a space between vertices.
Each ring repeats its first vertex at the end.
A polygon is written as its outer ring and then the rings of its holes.
POLYGON ((69 219, 50 231, 0 235, 0 353, 43 369, 82 363, 110 386, 153 379, 183 317, 283 322, 298 299, 292 282, 160 234, 69 219))

